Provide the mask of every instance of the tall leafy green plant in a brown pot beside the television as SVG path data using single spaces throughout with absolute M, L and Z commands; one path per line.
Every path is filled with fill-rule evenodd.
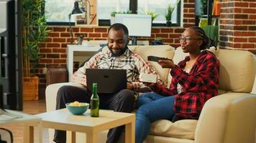
M 38 99 L 39 79 L 32 74 L 40 58 L 39 43 L 47 39 L 47 24 L 44 11 L 45 0 L 23 0 L 23 99 Z

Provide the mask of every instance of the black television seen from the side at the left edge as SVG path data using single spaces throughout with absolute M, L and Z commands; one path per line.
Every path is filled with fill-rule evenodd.
M 0 0 L 0 114 L 22 110 L 22 1 Z

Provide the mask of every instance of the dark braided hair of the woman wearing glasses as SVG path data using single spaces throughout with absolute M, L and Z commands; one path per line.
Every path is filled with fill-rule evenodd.
M 210 39 L 207 35 L 206 32 L 204 32 L 201 27 L 198 26 L 191 26 L 188 29 L 193 29 L 196 31 L 196 35 L 199 36 L 199 38 L 203 41 L 203 43 L 200 46 L 200 50 L 204 49 L 209 49 L 211 46 L 214 46 L 216 49 L 216 46 L 214 45 L 214 40 Z

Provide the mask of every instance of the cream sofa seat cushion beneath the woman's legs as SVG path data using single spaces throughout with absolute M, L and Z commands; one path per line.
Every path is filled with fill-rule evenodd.
M 194 139 L 197 122 L 194 119 L 183 119 L 173 123 L 166 119 L 160 119 L 150 125 L 150 134 L 180 139 Z

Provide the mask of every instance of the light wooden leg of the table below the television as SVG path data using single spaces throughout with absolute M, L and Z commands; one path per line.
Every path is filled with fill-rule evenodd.
M 23 142 L 34 142 L 34 127 L 24 124 L 23 134 Z

